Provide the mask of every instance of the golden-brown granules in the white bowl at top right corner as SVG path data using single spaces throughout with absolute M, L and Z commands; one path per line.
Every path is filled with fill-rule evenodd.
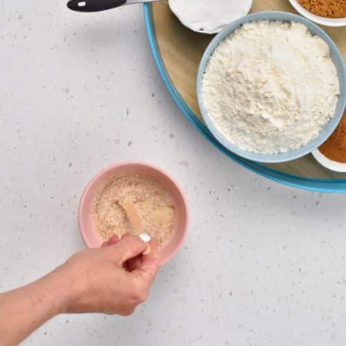
M 313 15 L 329 18 L 346 17 L 346 0 L 298 0 Z

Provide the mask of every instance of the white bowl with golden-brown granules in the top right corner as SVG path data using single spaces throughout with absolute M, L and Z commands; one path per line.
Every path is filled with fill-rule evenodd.
M 289 2 L 300 15 L 317 24 L 346 26 L 345 0 L 289 0 Z

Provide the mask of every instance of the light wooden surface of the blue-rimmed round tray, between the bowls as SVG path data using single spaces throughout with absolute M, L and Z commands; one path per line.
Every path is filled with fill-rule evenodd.
M 255 0 L 251 12 L 281 10 L 296 13 L 288 0 Z M 152 3 L 152 18 L 158 49 L 172 84 L 202 120 L 195 91 L 199 62 L 212 35 L 194 33 L 172 14 L 165 1 Z M 338 45 L 346 61 L 346 27 L 322 27 Z M 306 178 L 346 179 L 346 173 L 325 169 L 309 154 L 289 163 L 266 164 L 277 171 Z

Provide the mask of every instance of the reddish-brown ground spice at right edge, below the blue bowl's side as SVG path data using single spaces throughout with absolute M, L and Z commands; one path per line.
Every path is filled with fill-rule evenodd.
M 318 149 L 327 158 L 346 163 L 346 111 L 336 130 Z

